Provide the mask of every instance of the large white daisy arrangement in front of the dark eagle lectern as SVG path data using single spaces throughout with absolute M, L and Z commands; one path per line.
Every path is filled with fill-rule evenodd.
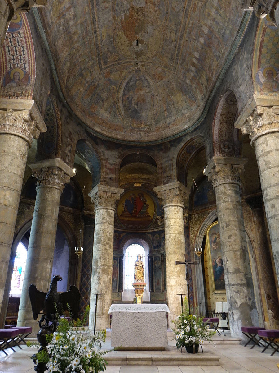
M 89 307 L 84 314 L 84 320 Z M 84 322 L 79 319 L 77 327 L 65 319 L 61 319 L 57 331 L 46 336 L 48 345 L 31 358 L 34 363 L 44 364 L 47 372 L 52 373 L 88 373 L 100 372 L 106 369 L 106 361 L 102 357 L 105 351 L 100 351 L 101 341 L 105 342 L 106 331 L 97 332 L 92 336 L 84 328 Z M 32 345 L 32 344 L 29 344 Z M 42 370 L 44 371 L 44 370 Z

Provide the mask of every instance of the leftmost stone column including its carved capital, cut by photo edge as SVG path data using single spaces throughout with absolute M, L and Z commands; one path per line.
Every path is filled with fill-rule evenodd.
M 33 107 L 33 112 L 30 110 L 34 101 L 30 100 L 30 103 L 28 101 L 29 106 L 24 105 L 23 100 L 18 101 L 14 105 L 16 109 L 23 106 L 26 110 L 8 109 L 13 107 L 13 100 L 0 100 L 0 109 L 4 109 L 0 110 L 1 326 L 4 325 L 4 317 L 6 316 L 7 302 L 4 301 L 3 296 L 28 149 L 31 147 L 32 139 L 37 139 L 40 132 L 47 130 L 37 107 Z M 37 120 L 32 120 L 35 119 L 34 116 Z

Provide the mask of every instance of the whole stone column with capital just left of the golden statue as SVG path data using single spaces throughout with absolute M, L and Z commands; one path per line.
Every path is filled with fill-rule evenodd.
M 109 327 L 112 290 L 113 230 L 116 201 L 124 189 L 96 185 L 89 193 L 95 205 L 95 230 L 90 291 L 89 329 L 94 329 L 96 294 L 98 294 L 96 330 Z

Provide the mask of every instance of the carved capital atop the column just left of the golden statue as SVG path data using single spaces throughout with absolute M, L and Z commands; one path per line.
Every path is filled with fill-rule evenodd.
M 116 209 L 116 202 L 119 200 L 120 195 L 124 192 L 124 189 L 113 188 L 111 186 L 105 186 L 97 184 L 94 186 L 92 191 L 88 194 L 91 198 L 95 209 Z

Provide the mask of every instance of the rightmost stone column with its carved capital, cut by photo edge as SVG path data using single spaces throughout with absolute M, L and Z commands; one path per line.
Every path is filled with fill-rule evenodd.
M 254 146 L 279 284 L 279 106 L 257 106 L 241 127 Z

